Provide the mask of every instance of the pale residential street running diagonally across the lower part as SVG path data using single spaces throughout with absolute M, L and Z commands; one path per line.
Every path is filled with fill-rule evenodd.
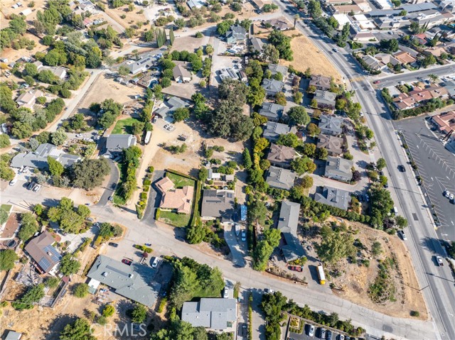
M 58 203 L 55 199 L 43 197 L 41 192 L 33 193 L 22 187 L 9 186 L 6 187 L 4 192 L 1 192 L 1 203 L 6 202 L 23 209 L 27 209 L 31 204 L 36 203 L 50 206 Z M 336 312 L 342 319 L 352 319 L 355 326 L 363 327 L 369 334 L 375 336 L 380 337 L 385 334 L 385 336 L 389 338 L 394 337 L 395 339 L 434 339 L 435 331 L 431 322 L 390 317 L 375 312 L 372 309 L 355 305 L 334 295 L 327 294 L 327 292 L 319 292 L 319 290 L 295 285 L 289 281 L 271 278 L 269 275 L 252 270 L 250 265 L 247 265 L 245 268 L 235 268 L 227 258 L 210 255 L 200 251 L 197 245 L 192 246 L 188 243 L 178 241 L 175 238 L 175 228 L 151 219 L 138 221 L 135 212 L 129 214 L 126 210 L 120 211 L 109 205 L 104 207 L 92 206 L 90 209 L 92 210 L 92 216 L 96 216 L 97 221 L 111 221 L 127 227 L 127 233 L 122 243 L 133 244 L 140 240 L 141 243 L 151 243 L 152 248 L 156 249 L 158 253 L 170 253 L 179 257 L 189 256 L 200 263 L 206 263 L 220 268 L 225 278 L 234 282 L 240 282 L 242 287 L 252 287 L 254 288 L 253 291 L 257 291 L 258 293 L 260 290 L 264 290 L 264 288 L 279 290 L 300 305 L 306 304 L 315 310 L 323 310 L 328 313 Z M 257 301 L 260 301 L 259 296 Z M 257 318 L 254 317 L 254 319 L 259 320 L 260 315 L 257 314 Z

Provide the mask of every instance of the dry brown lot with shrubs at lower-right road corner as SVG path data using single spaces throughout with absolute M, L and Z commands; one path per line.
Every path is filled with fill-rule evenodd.
M 370 266 L 348 263 L 347 260 L 337 263 L 337 268 L 344 268 L 338 278 L 332 278 L 332 283 L 341 290 L 333 292 L 346 300 L 355 302 L 368 308 L 374 308 L 378 312 L 392 317 L 410 317 L 410 311 L 418 311 L 420 319 L 427 319 L 427 307 L 422 293 L 418 290 L 419 283 L 414 273 L 414 267 L 410 259 L 410 253 L 398 236 L 390 236 L 384 231 L 378 231 L 360 223 L 348 222 L 351 229 L 358 229 L 359 233 L 353 235 L 359 239 L 368 251 L 360 253 L 364 259 L 369 259 Z M 381 243 L 382 253 L 374 258 L 370 253 L 373 242 Z M 378 259 L 395 258 L 399 270 L 391 270 L 392 280 L 395 284 L 395 302 L 387 301 L 384 305 L 374 304 L 368 297 L 368 287 L 378 275 Z M 400 273 L 399 273 L 400 272 Z M 401 276 L 400 276 L 401 274 Z

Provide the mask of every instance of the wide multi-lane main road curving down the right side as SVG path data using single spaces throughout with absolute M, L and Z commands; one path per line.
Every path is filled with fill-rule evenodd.
M 283 8 L 283 5 L 275 1 Z M 291 20 L 294 13 L 289 13 L 288 18 Z M 332 53 L 331 49 L 335 45 L 324 41 L 320 35 L 316 35 L 307 26 L 299 23 L 297 25 L 300 31 L 309 35 L 314 43 L 328 56 L 338 70 L 346 75 L 348 79 L 358 78 L 363 73 L 360 65 L 353 59 L 352 55 L 340 49 L 338 53 Z M 381 156 L 385 158 L 390 171 L 390 192 L 395 204 L 399 207 L 399 212 L 405 216 L 408 221 L 412 221 L 412 228 L 408 231 L 410 240 L 407 245 L 410 249 L 411 258 L 414 268 L 422 287 L 425 300 L 429 307 L 429 312 L 434 319 L 432 324 L 427 324 L 426 331 L 432 331 L 430 339 L 455 339 L 455 304 L 448 303 L 455 301 L 454 278 L 448 266 L 437 267 L 434 263 L 434 256 L 437 254 L 445 255 L 445 251 L 437 239 L 437 233 L 434 230 L 432 219 L 426 208 L 422 192 L 417 185 L 417 181 L 412 175 L 410 167 L 407 172 L 398 172 L 397 166 L 406 164 L 407 158 L 400 141 L 395 135 L 391 122 L 391 115 L 388 109 L 382 103 L 379 91 L 375 91 L 369 82 L 369 79 L 361 77 L 360 81 L 352 83 L 356 91 L 358 102 L 363 106 L 364 111 L 369 114 L 366 116 L 370 128 L 375 132 L 375 139 L 378 143 Z M 341 312 L 340 315 L 346 316 Z M 365 314 L 368 317 L 368 314 Z M 404 326 L 405 322 L 397 319 L 392 325 Z M 435 324 L 434 324 L 435 323 Z M 384 331 L 387 333 L 399 335 L 396 329 L 384 325 Z M 400 334 L 402 336 L 402 334 Z M 408 338 L 412 338 L 407 334 Z M 417 336 L 418 339 L 424 339 L 422 334 Z

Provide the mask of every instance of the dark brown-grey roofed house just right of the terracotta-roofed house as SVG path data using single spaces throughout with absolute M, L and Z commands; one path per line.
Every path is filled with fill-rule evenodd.
M 232 221 L 234 206 L 234 190 L 204 190 L 200 218 L 220 219 L 222 222 Z

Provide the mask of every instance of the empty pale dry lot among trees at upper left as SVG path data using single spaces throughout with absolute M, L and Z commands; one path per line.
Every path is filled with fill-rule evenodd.
M 90 104 L 100 103 L 105 99 L 114 99 L 119 103 L 130 102 L 136 94 L 144 94 L 144 89 L 138 86 L 127 87 L 114 82 L 114 78 L 102 74 L 93 83 L 79 107 L 88 109 Z

